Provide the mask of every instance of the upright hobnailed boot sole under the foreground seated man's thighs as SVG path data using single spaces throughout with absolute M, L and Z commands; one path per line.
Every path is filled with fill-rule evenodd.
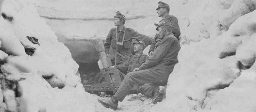
M 155 97 L 152 100 L 152 104 L 157 104 L 157 102 L 161 102 L 162 99 L 165 97 L 165 87 L 159 86 L 157 90 L 158 92 L 155 92 Z

